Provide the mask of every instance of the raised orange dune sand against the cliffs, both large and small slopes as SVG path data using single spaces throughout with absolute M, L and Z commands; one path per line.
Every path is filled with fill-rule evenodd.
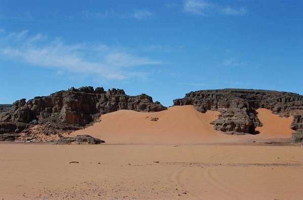
M 210 121 L 218 111 L 200 113 L 193 106 L 174 106 L 168 110 L 144 113 L 119 110 L 101 116 L 101 122 L 72 132 L 72 136 L 88 134 L 109 144 L 201 144 L 248 142 L 252 140 L 290 138 L 292 117 L 281 118 L 267 109 L 258 109 L 264 124 L 259 135 L 233 136 L 213 129 Z M 157 121 L 151 121 L 158 117 Z

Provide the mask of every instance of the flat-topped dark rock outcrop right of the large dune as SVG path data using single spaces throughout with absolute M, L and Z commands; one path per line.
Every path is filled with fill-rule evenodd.
M 281 116 L 294 116 L 293 130 L 303 131 L 303 96 L 268 90 L 223 89 L 190 92 L 174 105 L 193 105 L 196 110 L 218 110 L 214 129 L 228 134 L 257 134 L 256 126 L 262 126 L 256 109 L 267 108 Z

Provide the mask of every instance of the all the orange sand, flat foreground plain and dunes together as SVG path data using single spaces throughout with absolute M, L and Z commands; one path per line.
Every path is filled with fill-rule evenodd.
M 292 118 L 258 112 L 255 136 L 221 134 L 217 112 L 182 106 L 121 110 L 72 133 L 102 145 L 2 143 L 0 199 L 302 199 L 303 148 L 264 144 L 289 140 Z

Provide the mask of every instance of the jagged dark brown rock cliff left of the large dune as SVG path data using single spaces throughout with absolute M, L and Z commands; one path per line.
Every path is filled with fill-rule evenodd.
M 27 102 L 18 100 L 9 110 L 0 112 L 0 141 L 14 141 L 21 131 L 30 136 L 30 127 L 37 124 L 46 135 L 79 129 L 102 114 L 121 109 L 156 112 L 166 107 L 146 94 L 128 96 L 120 89 L 72 87 Z

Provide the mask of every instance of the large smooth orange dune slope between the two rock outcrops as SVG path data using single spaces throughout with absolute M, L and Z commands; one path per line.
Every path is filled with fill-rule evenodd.
M 89 134 L 107 143 L 220 142 L 228 136 L 220 134 L 210 124 L 218 114 L 217 111 L 200 113 L 193 106 L 174 106 L 154 113 L 119 110 L 102 115 L 101 122 L 72 135 Z M 152 117 L 159 119 L 151 121 Z

